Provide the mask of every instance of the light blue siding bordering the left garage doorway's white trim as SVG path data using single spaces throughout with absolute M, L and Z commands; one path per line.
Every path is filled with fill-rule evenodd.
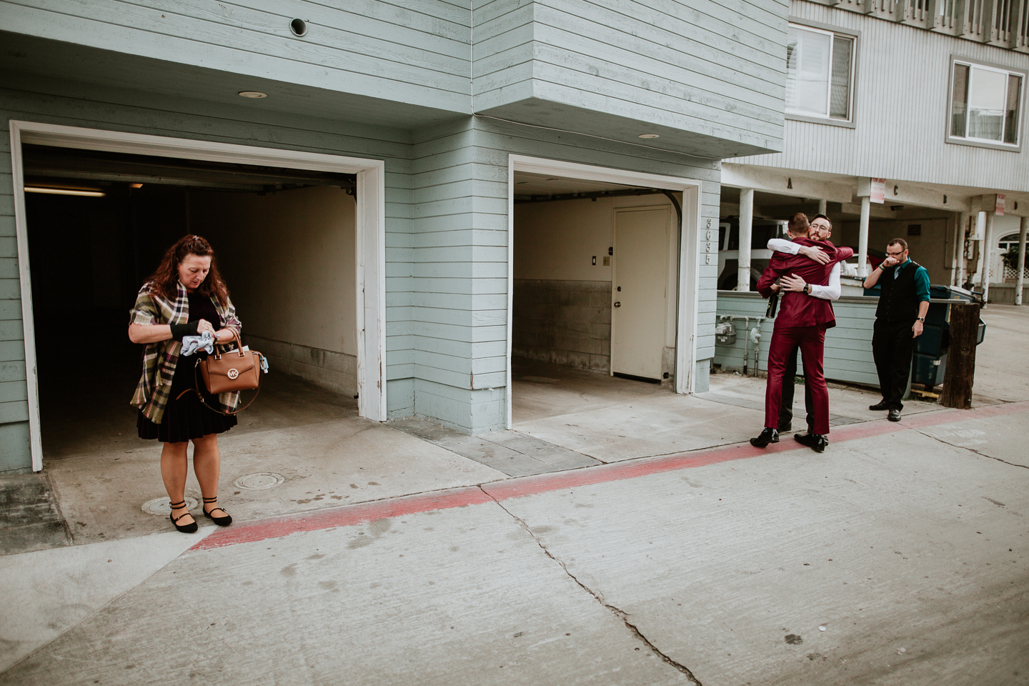
M 2 444 L 0 471 L 30 465 L 27 441 L 16 447 L 22 444 L 17 442 L 22 435 L 27 436 L 28 405 L 24 397 L 25 348 L 16 279 L 9 119 L 385 159 L 386 279 L 390 291 L 386 311 L 387 401 L 392 416 L 414 411 L 410 132 L 100 86 L 48 83 L 38 78 L 30 81 L 33 88 L 50 94 L 33 93 L 28 86 L 11 87 L 10 83 L 0 88 L 0 437 L 13 437 L 10 443 Z M 59 95 L 66 87 L 71 93 Z M 246 313 L 241 317 L 245 325 Z

